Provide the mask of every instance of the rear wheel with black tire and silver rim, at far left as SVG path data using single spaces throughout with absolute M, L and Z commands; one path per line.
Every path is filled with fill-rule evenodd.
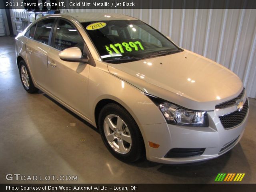
M 38 88 L 34 86 L 30 72 L 24 60 L 21 60 L 19 62 L 19 72 L 20 72 L 20 80 L 24 89 L 28 93 L 38 92 Z

